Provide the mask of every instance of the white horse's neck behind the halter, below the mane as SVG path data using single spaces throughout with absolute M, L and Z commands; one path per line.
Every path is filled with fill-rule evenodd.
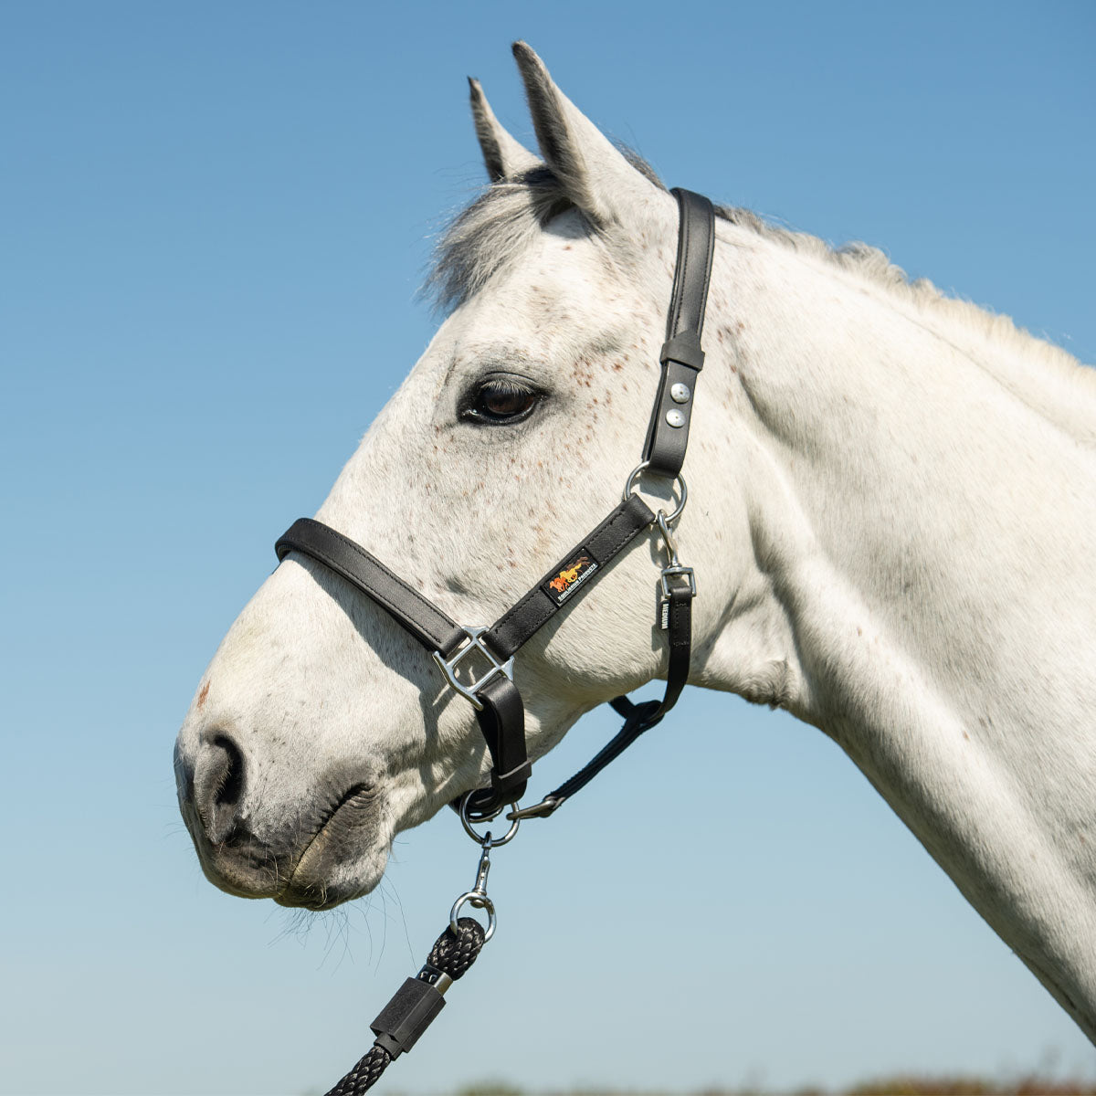
M 697 678 L 831 734 L 1096 1040 L 1091 380 L 1054 413 L 1068 369 L 1040 396 L 1051 366 L 932 308 L 723 251 L 705 380 L 745 558 Z

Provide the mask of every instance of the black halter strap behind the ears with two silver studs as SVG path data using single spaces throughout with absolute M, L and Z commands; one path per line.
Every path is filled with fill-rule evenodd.
M 671 193 L 677 198 L 680 216 L 677 266 L 666 317 L 666 341 L 659 355 L 662 376 L 647 429 L 643 459 L 649 471 L 672 477 L 685 461 L 693 397 L 704 366 L 700 334 L 716 244 L 716 214 L 701 194 L 681 189 Z M 683 387 L 675 389 L 678 385 Z M 675 390 L 687 395 L 675 400 Z

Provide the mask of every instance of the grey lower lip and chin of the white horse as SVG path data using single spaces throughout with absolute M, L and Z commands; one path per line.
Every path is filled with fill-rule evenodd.
M 377 849 L 381 796 L 374 785 L 356 784 L 320 815 L 285 888 L 281 905 L 330 910 L 370 891 L 386 856 Z M 379 859 L 379 864 L 376 861 Z M 375 870 L 369 870 L 375 868 Z

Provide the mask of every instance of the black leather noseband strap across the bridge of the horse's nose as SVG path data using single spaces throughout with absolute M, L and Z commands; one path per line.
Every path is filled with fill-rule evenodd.
M 427 651 L 450 655 L 465 639 L 464 629 L 418 590 L 392 574 L 375 556 L 322 522 L 299 517 L 274 545 L 278 562 L 299 551 L 341 574 L 373 598 Z

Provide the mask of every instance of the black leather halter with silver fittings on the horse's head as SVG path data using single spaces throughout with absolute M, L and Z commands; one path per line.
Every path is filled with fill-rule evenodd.
M 671 193 L 678 206 L 677 261 L 666 341 L 660 355 L 659 391 L 643 446 L 643 463 L 636 473 L 646 471 L 676 478 L 688 444 L 696 379 L 704 366 L 700 334 L 711 277 L 715 210 L 706 197 L 692 191 Z M 473 792 L 468 806 L 468 817 L 477 821 L 493 818 L 506 803 L 516 803 L 532 772 L 525 744 L 525 708 L 513 681 L 515 652 L 560 609 L 579 601 L 604 574 L 609 562 L 655 521 L 655 514 L 638 494 L 626 494 L 600 525 L 488 628 L 458 625 L 361 545 L 322 522 L 299 518 L 278 538 L 274 550 L 279 562 L 290 552 L 316 560 L 376 602 L 433 655 L 447 684 L 476 708 L 491 755 L 491 787 Z M 688 677 L 696 587 L 692 571 L 676 566 L 676 556 L 673 562 L 662 573 L 661 626 L 667 632 L 670 646 L 663 698 L 641 704 L 632 704 L 627 697 L 613 700 L 614 709 L 625 717 L 625 724 L 614 739 L 570 780 L 539 803 L 511 817 L 550 814 L 643 731 L 658 723 L 676 703 Z M 469 665 L 472 659 L 480 666 L 487 665 L 475 680 Z

